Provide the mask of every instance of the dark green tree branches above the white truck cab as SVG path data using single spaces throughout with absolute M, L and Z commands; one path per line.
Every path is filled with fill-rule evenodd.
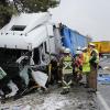
M 7 24 L 12 14 L 21 12 L 46 12 L 59 4 L 57 0 L 0 0 L 0 28 Z

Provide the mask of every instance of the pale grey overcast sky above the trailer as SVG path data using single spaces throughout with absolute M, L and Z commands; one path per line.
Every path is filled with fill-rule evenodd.
M 110 41 L 110 0 L 61 0 L 53 21 L 63 22 L 94 41 Z

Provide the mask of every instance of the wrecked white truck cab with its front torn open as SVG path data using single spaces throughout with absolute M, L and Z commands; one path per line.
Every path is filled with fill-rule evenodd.
M 0 67 L 8 76 L 4 86 L 12 80 L 19 88 L 19 94 L 30 87 L 31 79 L 37 79 L 32 74 L 47 67 L 51 53 L 55 53 L 53 24 L 50 23 L 50 19 L 48 12 L 21 13 L 13 15 L 0 30 Z M 41 75 L 46 74 L 41 73 L 37 77 L 42 77 Z M 46 75 L 45 80 L 47 78 Z M 1 80 L 2 84 L 4 80 Z M 8 88 L 4 86 L 1 85 L 0 89 Z

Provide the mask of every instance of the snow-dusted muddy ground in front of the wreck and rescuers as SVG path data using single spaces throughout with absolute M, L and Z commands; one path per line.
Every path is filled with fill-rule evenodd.
M 82 86 L 73 87 L 68 95 L 61 95 L 62 88 L 51 87 L 50 94 L 31 94 L 15 101 L 0 103 L 0 110 L 22 110 L 20 107 L 31 106 L 31 110 L 99 110 L 96 95 L 88 92 Z M 14 108 L 19 109 L 14 109 Z

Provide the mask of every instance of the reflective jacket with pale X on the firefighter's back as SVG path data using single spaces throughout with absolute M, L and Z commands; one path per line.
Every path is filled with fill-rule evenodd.
M 63 57 L 63 74 L 73 74 L 73 58 L 70 55 Z

